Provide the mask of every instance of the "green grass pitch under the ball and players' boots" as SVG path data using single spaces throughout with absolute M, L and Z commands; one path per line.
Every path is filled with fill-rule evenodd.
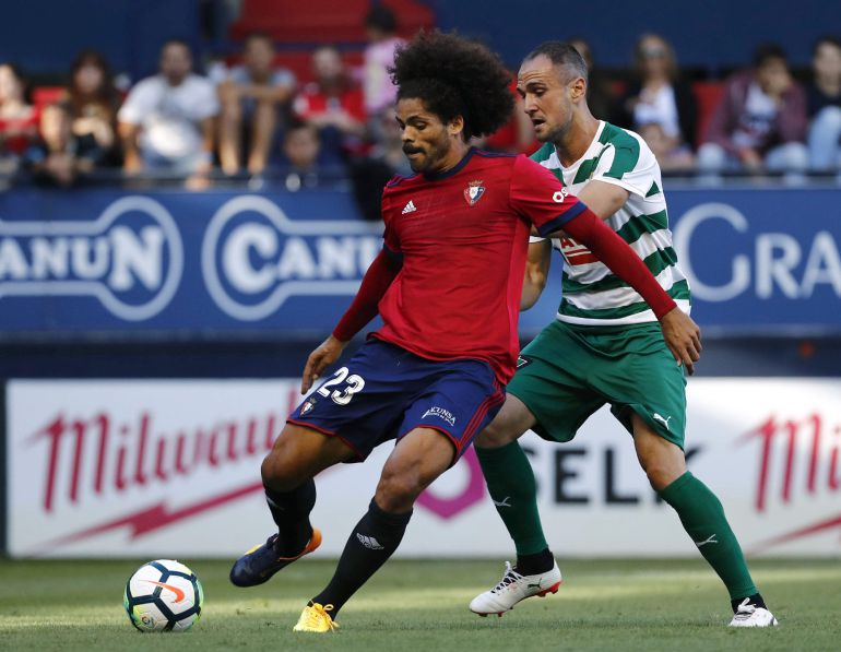
M 762 560 L 755 579 L 781 620 L 733 630 L 726 594 L 701 560 L 572 560 L 557 595 L 504 618 L 467 612 L 499 579 L 496 561 L 391 561 L 342 610 L 333 635 L 294 635 L 333 562 L 303 560 L 256 589 L 227 582 L 228 562 L 186 560 L 205 588 L 202 620 L 183 635 L 143 635 L 122 610 L 133 561 L 0 561 L 2 650 L 818 650 L 841 649 L 841 562 Z

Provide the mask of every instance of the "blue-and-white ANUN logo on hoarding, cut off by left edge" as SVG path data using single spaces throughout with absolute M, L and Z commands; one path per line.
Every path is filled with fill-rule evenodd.
M 94 221 L 0 221 L 0 299 L 92 297 L 143 321 L 169 305 L 182 271 L 175 220 L 147 197 L 123 197 Z

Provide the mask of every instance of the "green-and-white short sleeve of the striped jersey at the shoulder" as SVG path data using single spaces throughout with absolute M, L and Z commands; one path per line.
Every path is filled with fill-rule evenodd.
M 648 145 L 623 133 L 604 150 L 591 180 L 613 183 L 644 198 L 652 187 L 660 187 L 660 168 Z

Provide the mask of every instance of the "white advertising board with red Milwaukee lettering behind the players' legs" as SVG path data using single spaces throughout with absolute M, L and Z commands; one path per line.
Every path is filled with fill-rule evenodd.
M 264 540 L 260 462 L 297 379 L 13 380 L 7 532 L 14 557 L 234 557 Z M 748 554 L 841 553 L 841 380 L 694 379 L 689 469 Z M 600 411 L 569 443 L 522 439 L 558 556 L 694 555 L 627 432 Z M 391 450 L 317 479 L 312 522 L 336 556 Z M 420 499 L 398 554 L 511 555 L 472 450 Z

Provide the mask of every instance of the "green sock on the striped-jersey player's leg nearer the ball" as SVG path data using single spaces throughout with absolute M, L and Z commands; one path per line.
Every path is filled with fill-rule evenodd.
M 501 448 L 478 448 L 476 457 L 485 474 L 490 498 L 514 540 L 518 555 L 534 555 L 548 548 L 537 513 L 534 472 L 517 441 Z

